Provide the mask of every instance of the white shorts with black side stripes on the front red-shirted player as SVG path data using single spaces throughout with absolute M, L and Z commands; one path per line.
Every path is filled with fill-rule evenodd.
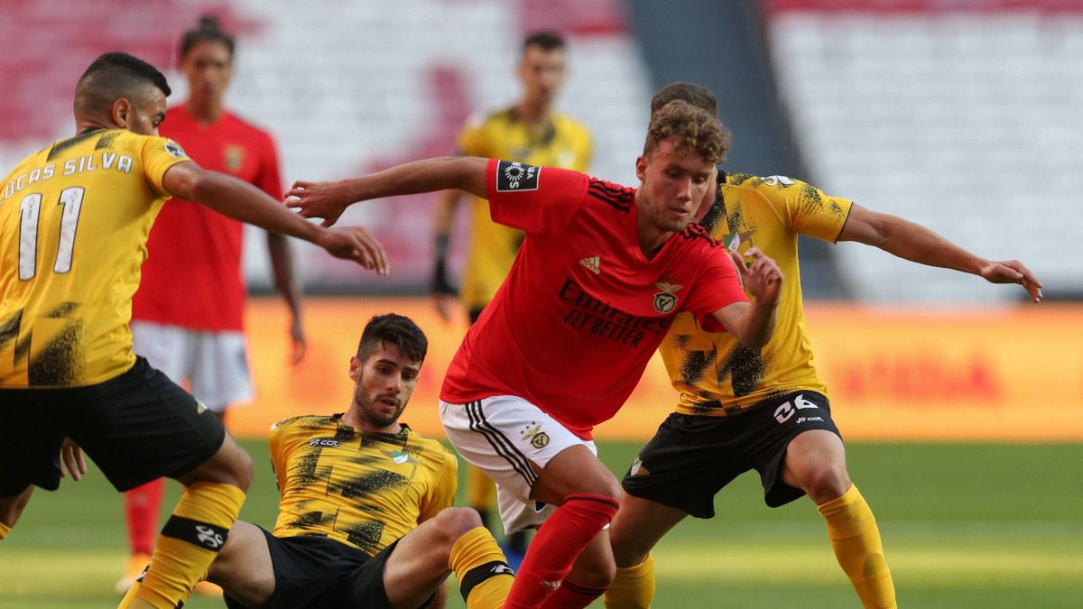
M 468 404 L 440 401 L 440 422 L 462 458 L 496 482 L 504 532 L 545 522 L 557 506 L 531 498 L 537 481 L 532 463 L 544 468 L 564 449 L 598 448 L 569 431 L 542 409 L 516 396 L 494 396 Z

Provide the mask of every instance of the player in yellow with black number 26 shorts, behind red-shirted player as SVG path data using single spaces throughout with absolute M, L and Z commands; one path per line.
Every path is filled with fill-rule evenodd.
M 678 82 L 658 91 L 656 112 L 681 100 L 717 113 L 714 93 Z M 900 258 L 1016 283 L 1038 302 L 1042 284 L 1019 261 L 979 258 L 928 229 L 832 197 L 782 176 L 718 177 L 701 223 L 730 249 L 757 247 L 785 276 L 798 274 L 797 236 L 853 241 Z M 777 329 L 752 350 L 732 335 L 678 315 L 660 347 L 677 412 L 662 424 L 623 480 L 625 495 L 610 539 L 617 576 L 609 608 L 649 607 L 654 594 L 650 550 L 689 515 L 712 518 L 715 495 L 756 469 L 771 507 L 807 494 L 823 516 L 839 566 L 865 607 L 896 607 L 895 587 L 872 510 L 850 481 L 827 389 L 815 372 L 805 333 L 799 281 L 783 284 Z

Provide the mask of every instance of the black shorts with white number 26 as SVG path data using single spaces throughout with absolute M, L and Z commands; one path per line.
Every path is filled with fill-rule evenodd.
M 765 503 L 779 507 L 805 494 L 782 481 L 782 468 L 786 446 L 810 429 L 839 435 L 827 398 L 814 391 L 785 393 L 728 416 L 674 413 L 640 451 L 621 485 L 629 495 L 713 518 L 718 491 L 755 469 Z M 649 474 L 635 475 L 640 468 Z

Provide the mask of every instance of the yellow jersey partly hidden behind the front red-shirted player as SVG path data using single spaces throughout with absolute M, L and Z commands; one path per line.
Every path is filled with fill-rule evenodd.
M 715 204 L 701 223 L 731 250 L 760 248 L 786 281 L 774 334 L 759 351 L 742 346 L 732 334 L 703 331 L 688 313 L 677 315 L 660 347 L 680 391 L 677 412 L 721 416 L 788 391 L 826 394 L 805 334 L 797 235 L 834 242 L 853 204 L 782 176 L 719 173 L 719 182 Z

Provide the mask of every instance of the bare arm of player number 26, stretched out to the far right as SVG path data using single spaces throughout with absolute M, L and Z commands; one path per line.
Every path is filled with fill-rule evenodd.
M 838 241 L 863 243 L 929 267 L 973 273 L 990 283 L 1019 284 L 1027 289 L 1031 300 L 1042 300 L 1042 282 L 1022 262 L 979 258 L 929 229 L 897 216 L 854 205 Z

